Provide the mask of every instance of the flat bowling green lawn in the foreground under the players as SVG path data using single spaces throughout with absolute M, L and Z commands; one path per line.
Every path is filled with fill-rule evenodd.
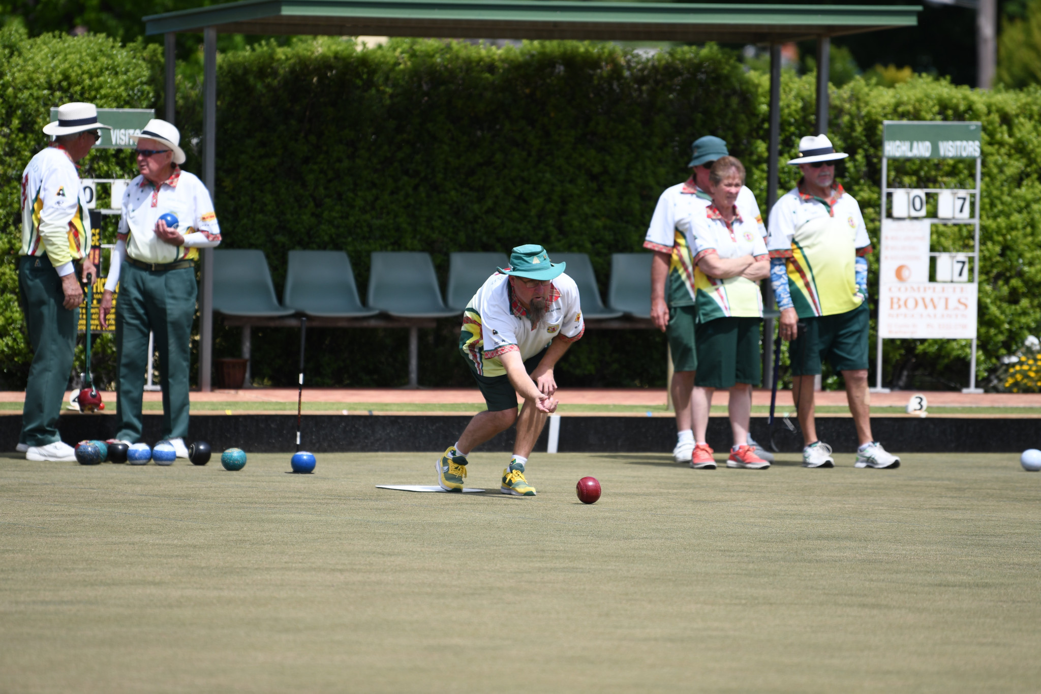
M 1041 474 L 434 454 L 0 457 L 4 692 L 1034 692 Z M 497 489 L 502 454 L 468 484 Z M 575 498 L 593 474 L 594 506 Z

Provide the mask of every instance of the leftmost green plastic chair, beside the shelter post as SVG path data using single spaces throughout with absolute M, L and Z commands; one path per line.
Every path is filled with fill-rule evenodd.
M 213 311 L 253 318 L 294 314 L 275 298 L 263 251 L 251 249 L 213 250 Z

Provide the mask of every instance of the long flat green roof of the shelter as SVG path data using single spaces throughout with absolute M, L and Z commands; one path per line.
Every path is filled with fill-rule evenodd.
M 148 34 L 222 33 L 781 43 L 915 26 L 919 5 L 547 0 L 245 0 L 145 19 Z

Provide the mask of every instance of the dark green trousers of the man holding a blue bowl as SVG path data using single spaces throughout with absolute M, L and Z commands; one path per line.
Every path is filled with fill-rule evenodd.
M 188 370 L 195 318 L 195 269 L 148 271 L 124 262 L 116 308 L 116 438 L 141 440 L 142 393 L 148 368 L 148 333 L 155 334 L 162 387 L 162 438 L 188 433 Z

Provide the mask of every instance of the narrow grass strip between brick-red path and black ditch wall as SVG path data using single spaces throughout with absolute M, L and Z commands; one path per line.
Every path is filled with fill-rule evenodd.
M 116 412 L 115 396 L 105 403 L 105 413 Z M 480 412 L 486 409 L 482 403 L 308 403 L 304 402 L 305 412 L 342 412 L 347 410 L 351 414 L 364 414 L 365 412 Z M 296 412 L 296 403 L 270 403 L 270 402 L 198 402 L 192 404 L 193 412 L 223 412 L 231 410 L 234 413 L 243 412 Z M 823 405 L 816 408 L 819 414 L 849 414 L 849 408 L 840 405 Z M 0 403 L 0 412 L 21 412 L 21 403 Z M 162 412 L 161 403 L 145 403 L 144 411 L 149 413 Z M 653 412 L 655 415 L 671 414 L 664 405 L 572 405 L 561 403 L 559 412 L 602 412 L 604 414 L 625 414 Z M 752 408 L 753 414 L 768 414 L 768 406 L 757 405 Z M 788 407 L 785 410 L 779 407 L 777 413 L 795 416 L 794 408 Z M 904 407 L 872 407 L 871 412 L 875 416 L 903 416 L 906 414 Z M 1041 407 L 933 407 L 930 410 L 933 414 L 1017 414 L 1017 415 L 1041 415 Z M 715 405 L 712 407 L 713 416 L 726 416 L 727 407 Z

